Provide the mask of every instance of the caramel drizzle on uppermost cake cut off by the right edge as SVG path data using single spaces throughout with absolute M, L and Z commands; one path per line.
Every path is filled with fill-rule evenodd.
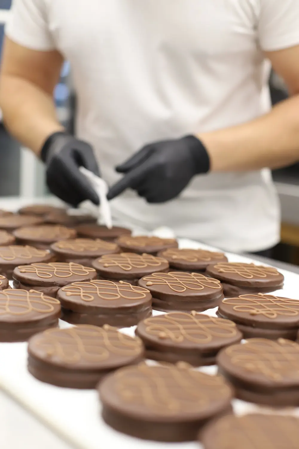
M 299 301 L 297 299 L 278 298 L 274 295 L 240 295 L 229 298 L 223 304 L 233 305 L 235 312 L 247 312 L 249 315 L 264 315 L 274 319 L 278 316 L 296 317 L 299 315 Z

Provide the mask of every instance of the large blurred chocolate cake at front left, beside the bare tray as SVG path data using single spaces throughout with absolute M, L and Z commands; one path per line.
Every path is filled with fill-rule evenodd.
M 28 370 L 36 379 L 58 387 L 95 388 L 99 380 L 143 358 L 143 344 L 105 325 L 49 329 L 28 345 Z

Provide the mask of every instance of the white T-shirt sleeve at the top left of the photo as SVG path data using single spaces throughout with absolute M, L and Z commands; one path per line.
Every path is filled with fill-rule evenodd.
M 5 34 L 17 44 L 48 51 L 55 43 L 48 27 L 45 0 L 13 0 Z

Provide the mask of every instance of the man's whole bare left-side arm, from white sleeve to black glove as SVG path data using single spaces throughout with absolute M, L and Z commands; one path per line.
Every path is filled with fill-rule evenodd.
M 5 39 L 0 108 L 9 132 L 35 154 L 50 134 L 63 129 L 53 102 L 62 63 L 57 51 L 35 51 Z

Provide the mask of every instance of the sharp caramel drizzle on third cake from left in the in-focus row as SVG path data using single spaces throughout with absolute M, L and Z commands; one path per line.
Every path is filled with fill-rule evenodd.
M 167 285 L 170 290 L 183 293 L 187 290 L 203 290 L 204 288 L 221 289 L 221 283 L 212 277 L 206 277 L 201 273 L 153 273 L 151 276 L 143 277 L 147 286 Z

